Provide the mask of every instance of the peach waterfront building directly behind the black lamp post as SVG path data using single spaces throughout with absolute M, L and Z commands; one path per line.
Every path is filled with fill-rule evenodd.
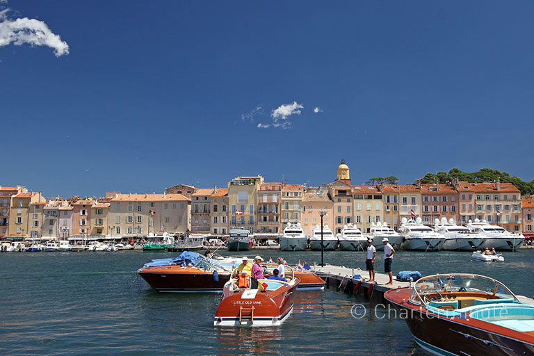
M 309 236 L 316 225 L 321 224 L 319 211 L 326 211 L 323 223 L 328 224 L 328 218 L 334 216 L 334 202 L 327 187 L 307 187 L 302 195 L 302 217 L 300 220 L 304 233 Z

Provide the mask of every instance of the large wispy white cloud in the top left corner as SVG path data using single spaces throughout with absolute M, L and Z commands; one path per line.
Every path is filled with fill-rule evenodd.
M 6 0 L 0 0 L 7 3 Z M 59 35 L 50 31 L 47 24 L 37 19 L 27 17 L 8 19 L 9 8 L 0 11 L 0 47 L 12 43 L 16 46 L 29 44 L 30 46 L 47 46 L 54 49 L 57 57 L 69 54 L 69 45 L 62 41 Z

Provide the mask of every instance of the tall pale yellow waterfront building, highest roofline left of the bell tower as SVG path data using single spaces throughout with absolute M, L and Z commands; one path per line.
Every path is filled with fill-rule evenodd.
M 230 206 L 230 225 L 240 225 L 250 232 L 256 228 L 256 207 L 258 188 L 264 183 L 264 177 L 236 177 L 228 182 L 228 204 Z M 239 214 L 236 214 L 239 212 Z

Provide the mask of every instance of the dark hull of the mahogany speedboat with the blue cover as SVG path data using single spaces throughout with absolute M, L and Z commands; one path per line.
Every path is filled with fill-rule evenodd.
M 230 279 L 229 272 L 218 273 L 217 282 L 212 273 L 196 270 L 196 268 L 185 270 L 179 266 L 143 268 L 138 270 L 138 273 L 152 289 L 159 292 L 220 293 Z

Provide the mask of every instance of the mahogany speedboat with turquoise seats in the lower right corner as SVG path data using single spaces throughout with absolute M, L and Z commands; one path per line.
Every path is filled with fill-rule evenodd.
M 385 298 L 435 355 L 534 355 L 534 305 L 482 275 L 431 275 Z

